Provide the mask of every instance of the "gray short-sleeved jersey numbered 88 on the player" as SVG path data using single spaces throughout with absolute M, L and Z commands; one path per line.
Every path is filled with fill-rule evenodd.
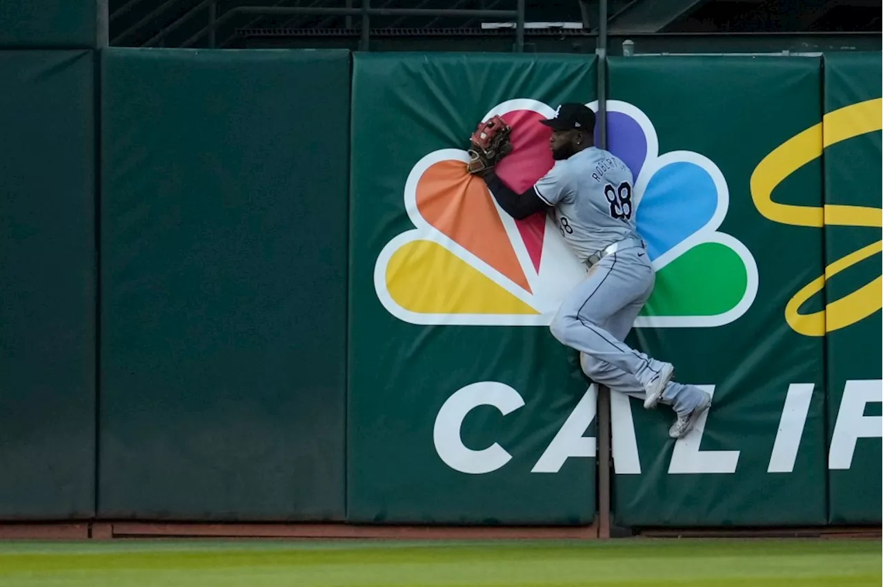
M 611 152 L 592 146 L 555 161 L 533 189 L 555 207 L 555 224 L 581 261 L 615 241 L 640 238 L 631 170 Z

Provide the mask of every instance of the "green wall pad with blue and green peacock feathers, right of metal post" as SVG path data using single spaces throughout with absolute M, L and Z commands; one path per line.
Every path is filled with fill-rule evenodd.
M 615 523 L 823 524 L 823 341 L 785 319 L 791 292 L 820 274 L 821 231 L 758 213 L 781 161 L 758 164 L 820 120 L 820 61 L 614 57 L 608 73 L 610 148 L 638 174 L 638 231 L 657 268 L 630 342 L 713 391 L 676 442 L 670 408 L 611 398 Z M 821 172 L 812 160 L 774 200 L 818 208 Z

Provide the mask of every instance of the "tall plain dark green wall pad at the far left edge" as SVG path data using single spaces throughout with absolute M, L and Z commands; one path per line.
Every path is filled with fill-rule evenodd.
M 94 513 L 94 57 L 0 51 L 0 518 Z

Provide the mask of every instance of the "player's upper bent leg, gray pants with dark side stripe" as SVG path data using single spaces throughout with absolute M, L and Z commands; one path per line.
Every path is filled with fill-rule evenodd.
M 653 266 L 644 249 L 605 256 L 564 299 L 550 329 L 562 344 L 634 376 L 648 397 L 658 398 L 674 368 L 640 353 L 604 328 L 630 304 L 643 304 L 653 291 Z

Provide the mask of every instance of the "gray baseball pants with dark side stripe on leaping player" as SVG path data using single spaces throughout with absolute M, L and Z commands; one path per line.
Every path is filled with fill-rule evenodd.
M 660 369 L 623 340 L 653 293 L 656 276 L 645 249 L 632 247 L 601 258 L 567 295 L 550 330 L 580 353 L 580 366 L 593 382 L 621 393 L 646 395 L 645 384 Z M 660 402 L 679 416 L 692 412 L 704 392 L 669 382 Z

